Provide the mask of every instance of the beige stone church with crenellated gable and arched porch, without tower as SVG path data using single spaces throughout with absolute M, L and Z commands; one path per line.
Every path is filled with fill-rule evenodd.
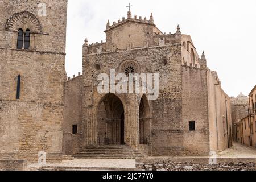
M 106 24 L 106 42 L 82 48 L 83 75 L 65 83 L 63 152 L 122 145 L 148 156 L 208 155 L 232 146 L 230 98 L 215 71 L 199 57 L 191 36 L 160 31 L 150 18 Z M 99 94 L 97 77 L 159 73 L 159 97 Z M 77 131 L 73 132 L 75 126 Z

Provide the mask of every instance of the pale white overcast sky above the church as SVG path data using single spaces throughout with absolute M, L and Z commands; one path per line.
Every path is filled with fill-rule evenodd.
M 131 13 L 152 13 L 162 32 L 191 35 L 199 55 L 205 51 L 208 67 L 216 70 L 229 96 L 248 95 L 256 84 L 256 1 L 255 0 L 75 0 L 68 1 L 68 76 L 82 72 L 82 44 L 103 40 L 108 19 L 117 22 Z

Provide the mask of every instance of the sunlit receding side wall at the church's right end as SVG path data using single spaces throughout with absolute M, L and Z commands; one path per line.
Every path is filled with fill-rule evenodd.
M 231 102 L 222 90 L 216 71 L 207 70 L 210 151 L 232 146 Z

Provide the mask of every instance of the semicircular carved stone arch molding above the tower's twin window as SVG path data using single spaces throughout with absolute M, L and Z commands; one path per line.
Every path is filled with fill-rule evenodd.
M 34 14 L 28 11 L 15 13 L 13 16 L 11 16 L 10 19 L 7 19 L 7 22 L 5 24 L 6 30 L 18 31 L 17 28 L 20 28 L 20 26 L 16 27 L 16 24 L 19 23 L 20 20 L 29 24 L 31 27 L 26 27 L 26 28 L 30 28 L 31 31 L 42 33 L 42 26 L 40 21 L 38 20 L 38 18 L 36 18 Z

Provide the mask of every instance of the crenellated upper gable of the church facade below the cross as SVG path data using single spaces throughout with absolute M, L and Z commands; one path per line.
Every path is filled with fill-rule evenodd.
M 118 20 L 119 24 L 125 23 L 125 21 L 130 21 L 133 19 L 125 19 L 124 20 Z M 134 18 L 135 22 L 141 22 L 142 18 L 135 16 Z M 170 45 L 180 45 L 181 44 L 181 36 L 183 36 L 180 32 L 179 26 L 177 27 L 177 31 L 172 34 L 169 32 L 166 34 L 165 32 L 162 33 L 158 28 L 155 27 L 154 25 L 154 19 L 151 18 L 150 20 L 144 20 L 142 21 L 144 23 L 148 23 L 149 26 L 138 26 L 137 24 L 132 23 L 129 27 L 134 26 L 135 32 L 133 33 L 133 30 L 127 31 L 127 32 L 122 32 L 122 27 L 121 30 L 119 30 L 118 27 L 116 27 L 116 23 L 114 23 L 114 26 L 110 26 L 109 21 L 107 23 L 107 27 L 115 27 L 117 30 L 113 28 L 112 31 L 107 32 L 107 38 L 106 42 L 96 42 L 96 43 L 91 43 L 88 44 L 88 39 L 85 39 L 85 43 L 83 46 L 83 55 L 90 55 L 90 54 L 101 54 L 101 53 L 109 53 L 109 52 L 119 52 L 119 51 L 127 51 L 127 50 L 133 50 L 133 49 L 145 49 L 145 48 L 156 48 L 156 47 L 162 47 L 162 46 L 170 46 Z M 152 25 L 152 26 L 150 26 Z M 123 24 L 123 26 L 126 26 Z M 134 36 L 137 36 L 137 26 L 138 26 L 138 31 L 139 28 L 142 29 L 141 36 L 139 36 L 138 39 Z M 105 31 L 106 32 L 106 31 Z M 113 33 L 112 33 L 113 32 Z M 123 35 L 119 35 L 123 34 Z M 138 33 L 139 34 L 139 33 Z M 131 38 L 131 39 L 130 39 Z M 134 38 L 134 39 L 132 39 Z M 116 40 L 115 40 L 116 39 Z M 134 42 L 134 40 L 137 40 Z

